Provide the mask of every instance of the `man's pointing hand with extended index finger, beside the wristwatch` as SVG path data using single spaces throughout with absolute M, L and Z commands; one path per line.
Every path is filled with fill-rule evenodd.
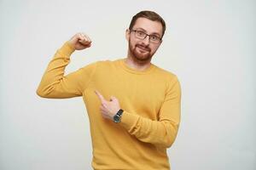
M 119 99 L 111 96 L 110 101 L 108 101 L 98 91 L 95 91 L 95 93 L 102 102 L 100 107 L 102 116 L 113 120 L 113 116 L 120 110 Z

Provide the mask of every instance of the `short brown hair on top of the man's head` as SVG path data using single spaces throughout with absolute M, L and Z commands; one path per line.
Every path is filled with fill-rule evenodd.
M 166 31 L 166 22 L 164 19 L 162 19 L 162 17 L 160 17 L 159 14 L 156 14 L 155 12 L 148 11 L 148 10 L 144 10 L 144 11 L 137 13 L 131 19 L 129 30 L 132 30 L 132 27 L 135 25 L 135 22 L 138 18 L 146 18 L 148 20 L 159 21 L 161 23 L 161 25 L 163 26 L 162 37 L 164 37 L 165 31 Z

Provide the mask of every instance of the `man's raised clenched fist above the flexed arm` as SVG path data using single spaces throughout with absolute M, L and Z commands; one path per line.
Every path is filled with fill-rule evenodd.
M 68 41 L 73 48 L 76 50 L 81 50 L 85 48 L 90 48 L 91 40 L 90 37 L 85 35 L 84 33 L 77 33 Z

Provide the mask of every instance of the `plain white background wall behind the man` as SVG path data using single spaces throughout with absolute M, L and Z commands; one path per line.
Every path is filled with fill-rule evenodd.
M 42 99 L 36 89 L 57 48 L 84 31 L 67 73 L 124 58 L 131 17 L 150 9 L 166 20 L 152 60 L 182 89 L 182 122 L 168 150 L 173 170 L 256 169 L 256 2 L 0 0 L 0 169 L 90 169 L 81 98 Z

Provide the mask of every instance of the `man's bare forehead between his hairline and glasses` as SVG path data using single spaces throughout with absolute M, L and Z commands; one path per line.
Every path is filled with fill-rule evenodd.
M 138 18 L 133 26 L 133 29 L 143 29 L 148 34 L 162 35 L 163 26 L 159 21 L 148 20 L 147 18 Z

